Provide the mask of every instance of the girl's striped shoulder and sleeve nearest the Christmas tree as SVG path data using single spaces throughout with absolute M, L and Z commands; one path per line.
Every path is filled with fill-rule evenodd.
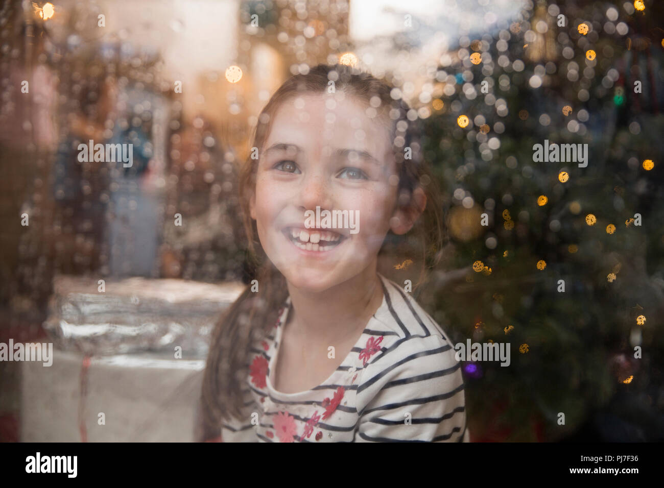
M 369 325 L 372 335 L 380 337 L 366 351 L 371 357 L 360 372 L 355 396 L 363 418 L 360 438 L 463 439 L 464 383 L 452 341 L 408 292 L 381 279 L 384 300 Z M 404 418 L 418 419 L 412 423 L 421 430 L 396 428 Z

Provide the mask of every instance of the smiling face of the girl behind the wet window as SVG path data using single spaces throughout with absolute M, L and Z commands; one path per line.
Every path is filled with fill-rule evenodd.
M 410 228 L 396 210 L 388 129 L 367 108 L 349 96 L 307 94 L 287 100 L 272 120 L 250 210 L 268 258 L 298 289 L 347 282 L 375 264 L 390 224 L 397 233 Z M 317 207 L 321 224 L 307 228 L 317 222 L 305 212 L 315 216 Z M 323 210 L 349 218 L 324 228 Z

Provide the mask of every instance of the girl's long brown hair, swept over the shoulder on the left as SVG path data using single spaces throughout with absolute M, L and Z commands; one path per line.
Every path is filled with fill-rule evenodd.
M 335 92 L 343 91 L 348 96 L 369 102 L 376 108 L 377 115 L 380 115 L 377 120 L 392 122 L 388 125 L 391 125 L 392 148 L 398 168 L 398 195 L 402 195 L 398 199 L 398 204 L 402 207 L 412 206 L 414 189 L 421 187 L 424 190 L 427 197 L 426 208 L 413 229 L 408 232 L 408 234 L 419 234 L 418 260 L 422 260 L 422 270 L 416 286 L 420 285 L 426 276 L 426 268 L 434 266 L 440 259 L 438 250 L 443 240 L 442 206 L 439 204 L 440 199 L 434 179 L 422 157 L 417 114 L 406 102 L 400 100 L 397 90 L 393 93 L 394 88 L 386 82 L 355 68 L 343 64 L 319 64 L 306 74 L 292 76 L 270 98 L 258 117 L 250 147 L 258 148 L 258 153 L 261 153 L 276 112 L 284 102 L 304 94 L 328 93 L 330 85 L 334 86 Z M 378 100 L 380 100 L 379 105 Z M 408 155 L 412 155 L 408 159 L 404 154 L 406 147 L 410 147 Z M 258 235 L 256 222 L 249 216 L 249 201 L 256 185 L 257 168 L 258 159 L 250 158 L 242 167 L 240 201 L 250 257 L 257 269 L 259 292 L 252 293 L 248 286 L 216 324 L 212 332 L 203 378 L 201 402 L 203 414 L 208 429 L 214 429 L 217 435 L 216 429 L 220 428 L 222 419 L 228 419 L 230 416 L 240 418 L 242 415 L 243 390 L 246 390 L 250 349 L 255 341 L 260 341 L 270 332 L 278 319 L 278 309 L 288 297 L 286 280 L 276 270 L 260 246 L 260 242 L 256 240 Z M 410 256 L 415 258 L 412 247 L 408 244 L 410 244 L 408 238 L 396 236 L 390 231 L 379 254 L 384 254 L 386 248 L 390 246 L 394 250 L 401 250 L 405 246 L 410 248 Z

